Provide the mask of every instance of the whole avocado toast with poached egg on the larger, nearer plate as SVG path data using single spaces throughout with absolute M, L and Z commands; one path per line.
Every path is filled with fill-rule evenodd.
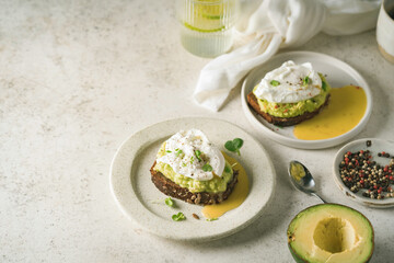
M 198 205 L 223 202 L 237 182 L 237 171 L 198 129 L 181 130 L 164 141 L 150 172 L 162 193 Z

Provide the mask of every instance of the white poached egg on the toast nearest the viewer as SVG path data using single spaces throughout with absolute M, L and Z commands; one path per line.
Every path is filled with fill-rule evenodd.
M 157 162 L 167 163 L 174 172 L 184 176 L 207 181 L 213 174 L 221 176 L 225 160 L 199 129 L 181 130 L 165 141 L 165 155 Z

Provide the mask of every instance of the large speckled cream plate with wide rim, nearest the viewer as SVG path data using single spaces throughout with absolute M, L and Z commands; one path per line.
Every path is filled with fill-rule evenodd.
M 160 145 L 181 129 L 199 128 L 224 151 L 224 142 L 235 137 L 244 145 L 235 157 L 250 178 L 250 193 L 237 208 L 218 220 L 207 221 L 201 206 L 176 201 L 177 207 L 164 204 L 166 196 L 151 182 L 150 168 Z M 275 187 L 275 170 L 266 150 L 240 127 L 212 118 L 178 118 L 144 128 L 128 138 L 116 152 L 111 168 L 111 190 L 124 214 L 144 230 L 169 239 L 212 240 L 229 236 L 250 225 L 262 215 Z M 185 221 L 173 221 L 178 211 Z M 200 219 L 192 215 L 197 214 Z

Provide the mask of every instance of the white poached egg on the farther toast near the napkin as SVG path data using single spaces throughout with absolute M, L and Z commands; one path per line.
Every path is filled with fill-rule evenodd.
M 262 100 L 275 103 L 297 103 L 318 95 L 322 79 L 312 64 L 283 62 L 279 68 L 266 73 L 254 90 Z

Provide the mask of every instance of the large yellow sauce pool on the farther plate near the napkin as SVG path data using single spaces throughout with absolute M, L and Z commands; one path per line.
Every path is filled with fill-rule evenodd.
M 296 125 L 293 134 L 296 138 L 303 140 L 337 137 L 356 127 L 366 108 L 367 95 L 360 87 L 332 89 L 328 105 L 313 118 Z

